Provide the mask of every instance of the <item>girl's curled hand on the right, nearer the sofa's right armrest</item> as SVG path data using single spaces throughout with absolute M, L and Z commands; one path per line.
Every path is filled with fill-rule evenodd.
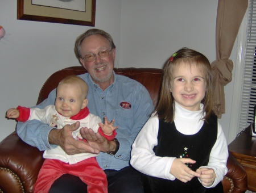
M 196 172 L 201 174 L 199 179 L 204 186 L 211 186 L 216 178 L 214 170 L 207 167 L 201 167 Z

